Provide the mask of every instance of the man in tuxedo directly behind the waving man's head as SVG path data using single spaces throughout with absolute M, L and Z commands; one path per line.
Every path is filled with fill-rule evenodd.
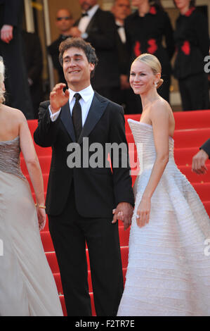
M 73 37 L 81 37 L 96 49 L 99 63 L 91 80 L 93 89 L 119 103 L 119 63 L 117 59 L 114 17 L 102 11 L 97 0 L 79 0 L 81 18 L 71 29 Z

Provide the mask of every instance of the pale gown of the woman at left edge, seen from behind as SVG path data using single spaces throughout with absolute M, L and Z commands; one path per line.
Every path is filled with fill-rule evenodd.
M 20 170 L 19 137 L 0 142 L 0 316 L 63 316 Z

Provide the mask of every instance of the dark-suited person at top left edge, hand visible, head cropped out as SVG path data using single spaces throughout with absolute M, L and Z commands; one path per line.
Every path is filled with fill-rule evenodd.
M 6 67 L 6 104 L 34 118 L 23 56 L 22 0 L 0 0 L 0 56 Z

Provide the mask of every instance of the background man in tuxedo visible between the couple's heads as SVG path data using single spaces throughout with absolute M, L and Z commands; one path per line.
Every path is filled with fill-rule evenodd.
M 116 42 L 118 51 L 118 61 L 120 70 L 119 104 L 124 106 L 126 114 L 137 113 L 138 103 L 136 96 L 129 84 L 127 66 L 129 62 L 129 52 L 126 49 L 126 33 L 124 29 L 124 20 L 131 14 L 131 4 L 129 0 L 114 0 L 112 13 L 115 18 L 115 27 L 117 30 Z

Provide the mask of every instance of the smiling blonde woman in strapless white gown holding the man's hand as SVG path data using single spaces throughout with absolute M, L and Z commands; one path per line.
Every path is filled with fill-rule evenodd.
M 142 54 L 131 65 L 140 122 L 129 120 L 140 159 L 129 264 L 118 316 L 210 316 L 210 220 L 173 158 L 173 113 L 157 94 L 161 65 Z

